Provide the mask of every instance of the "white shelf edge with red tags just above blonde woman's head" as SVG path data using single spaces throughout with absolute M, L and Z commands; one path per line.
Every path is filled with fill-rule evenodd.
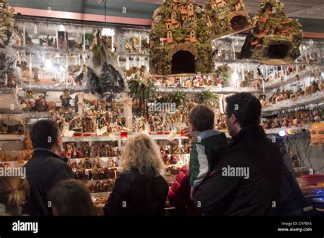
M 135 135 L 136 133 L 146 133 L 152 137 L 153 140 L 184 140 L 187 136 L 182 135 L 180 131 L 165 131 L 165 132 L 120 132 L 120 133 L 103 133 L 98 135 L 96 133 L 73 133 L 69 137 L 62 137 L 63 142 L 105 142 L 105 141 L 122 141 L 127 140 L 127 137 Z

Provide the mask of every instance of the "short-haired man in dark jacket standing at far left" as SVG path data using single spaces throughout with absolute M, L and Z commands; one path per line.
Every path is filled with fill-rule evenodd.
M 63 161 L 62 137 L 57 124 L 52 120 L 39 120 L 31 129 L 33 156 L 26 163 L 30 196 L 25 213 L 30 215 L 51 215 L 49 191 L 59 181 L 73 178 L 68 164 Z

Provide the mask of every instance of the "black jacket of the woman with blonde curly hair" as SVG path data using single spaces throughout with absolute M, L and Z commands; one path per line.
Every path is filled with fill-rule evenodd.
M 167 181 L 148 177 L 138 170 L 121 172 L 103 209 L 105 215 L 163 215 Z

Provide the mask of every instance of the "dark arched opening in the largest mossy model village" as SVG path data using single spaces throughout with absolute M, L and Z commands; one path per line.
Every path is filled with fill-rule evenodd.
M 195 56 L 189 51 L 177 51 L 172 56 L 172 74 L 195 72 Z

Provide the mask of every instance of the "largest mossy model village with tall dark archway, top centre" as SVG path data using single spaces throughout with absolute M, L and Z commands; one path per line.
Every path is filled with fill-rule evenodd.
M 151 73 L 211 72 L 211 34 L 206 21 L 205 10 L 194 1 L 164 1 L 154 11 L 149 34 Z

